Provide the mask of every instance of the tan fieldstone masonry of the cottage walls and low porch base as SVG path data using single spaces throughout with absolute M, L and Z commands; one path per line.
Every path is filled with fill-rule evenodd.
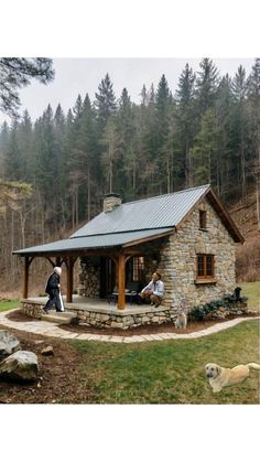
M 199 229 L 199 209 L 206 212 L 206 229 Z M 232 237 L 207 198 L 191 211 L 177 229 L 167 237 L 134 246 L 144 257 L 144 278 L 149 281 L 158 270 L 165 284 L 165 298 L 159 308 L 133 305 L 126 310 L 117 307 L 80 309 L 69 304 L 69 311 L 77 313 L 78 322 L 100 327 L 129 329 L 142 324 L 173 322 L 183 300 L 188 309 L 231 294 L 236 287 L 235 255 Z M 197 254 L 214 255 L 214 281 L 196 280 Z M 156 256 L 156 259 L 154 259 Z M 84 257 L 79 275 L 78 293 L 88 298 L 99 298 L 100 269 L 98 258 Z M 145 282 L 143 281 L 143 282 Z M 238 309 L 241 307 L 234 307 Z M 246 307 L 245 307 L 246 308 Z M 24 301 L 26 314 L 41 318 L 41 307 Z M 220 313 L 221 314 L 221 313 Z

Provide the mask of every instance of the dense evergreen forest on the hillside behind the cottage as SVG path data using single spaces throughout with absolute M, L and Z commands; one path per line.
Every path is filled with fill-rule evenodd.
M 107 74 L 93 101 L 86 88 L 67 114 L 48 105 L 1 126 L 1 275 L 15 283 L 14 248 L 69 236 L 109 192 L 128 202 L 210 183 L 228 206 L 253 192 L 259 226 L 260 58 L 234 78 L 210 58 L 197 73 L 187 63 L 170 86 L 144 83 L 137 104 Z

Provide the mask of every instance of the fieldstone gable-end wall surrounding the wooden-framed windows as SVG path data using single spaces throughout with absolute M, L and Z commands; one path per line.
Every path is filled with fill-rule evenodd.
M 207 213 L 207 230 L 199 229 L 199 209 Z M 166 307 L 177 309 L 183 299 L 188 307 L 218 300 L 236 287 L 236 244 L 215 209 L 205 198 L 169 238 L 161 255 Z M 196 283 L 196 255 L 213 254 L 215 283 Z

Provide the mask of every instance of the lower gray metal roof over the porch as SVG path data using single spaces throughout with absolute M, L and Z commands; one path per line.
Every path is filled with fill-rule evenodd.
M 161 234 L 169 234 L 173 228 L 158 228 L 145 229 L 139 232 L 117 233 L 98 236 L 84 236 L 75 237 L 74 239 L 56 240 L 55 243 L 44 244 L 42 246 L 28 247 L 21 250 L 14 250 L 13 254 L 18 255 L 32 255 L 32 254 L 51 254 L 57 251 L 69 251 L 80 249 L 95 249 L 99 247 L 117 247 L 123 245 L 131 245 L 132 241 L 137 243 L 141 239 L 151 239 Z

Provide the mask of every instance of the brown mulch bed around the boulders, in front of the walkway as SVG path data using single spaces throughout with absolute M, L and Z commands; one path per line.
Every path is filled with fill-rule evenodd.
M 39 379 L 35 383 L 17 384 L 0 380 L 0 404 L 80 404 L 93 397 L 91 384 L 80 375 L 82 354 L 69 342 L 48 339 L 29 332 L 17 331 L 0 325 L 1 330 L 12 332 L 20 341 L 21 348 L 36 354 Z M 42 350 L 52 346 L 53 356 L 43 356 Z M 77 386 L 75 386 L 77 384 Z

